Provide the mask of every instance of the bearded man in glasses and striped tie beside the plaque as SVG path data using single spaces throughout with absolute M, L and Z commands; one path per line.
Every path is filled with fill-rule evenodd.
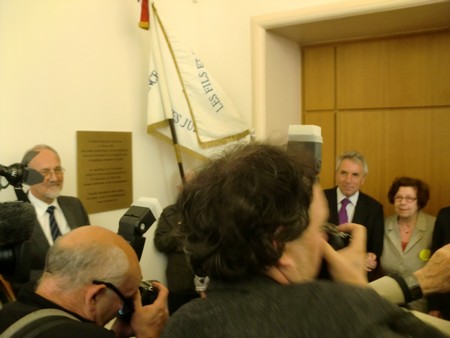
M 36 155 L 33 156 L 34 153 Z M 24 159 L 29 159 L 28 167 L 44 177 L 43 182 L 30 186 L 27 193 L 38 220 L 31 237 L 30 279 L 33 283 L 40 277 L 47 251 L 56 237 L 79 226 L 89 225 L 90 222 L 86 209 L 78 198 L 61 196 L 64 168 L 55 149 L 48 145 L 36 145 L 24 155 Z M 53 209 L 52 216 L 49 207 Z

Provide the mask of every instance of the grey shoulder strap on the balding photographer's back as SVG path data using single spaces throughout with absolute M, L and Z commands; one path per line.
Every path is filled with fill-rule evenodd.
M 49 321 L 48 319 L 50 318 L 53 319 Z M 43 332 L 43 330 L 47 330 L 53 326 L 57 326 L 61 322 L 61 319 L 66 321 L 67 318 L 70 318 L 71 320 L 80 321 L 78 318 L 62 310 L 58 309 L 37 310 L 20 318 L 14 324 L 8 327 L 5 331 L 3 331 L 2 334 L 0 334 L 0 338 L 35 337 L 37 334 Z

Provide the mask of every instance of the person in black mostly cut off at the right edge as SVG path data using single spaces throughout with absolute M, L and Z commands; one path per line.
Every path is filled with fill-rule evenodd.
M 450 206 L 439 210 L 434 223 L 431 253 L 450 243 Z M 450 320 L 450 293 L 428 296 L 428 310 L 435 317 Z

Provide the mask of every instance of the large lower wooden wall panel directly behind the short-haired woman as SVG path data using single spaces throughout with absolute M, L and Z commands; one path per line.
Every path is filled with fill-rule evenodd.
M 425 210 L 436 215 L 450 205 L 449 126 L 450 108 L 343 111 L 336 128 L 347 132 L 336 134 L 336 152 L 354 149 L 366 156 L 369 174 L 362 190 L 379 200 L 387 215 L 393 213 L 387 191 L 398 176 L 430 185 Z

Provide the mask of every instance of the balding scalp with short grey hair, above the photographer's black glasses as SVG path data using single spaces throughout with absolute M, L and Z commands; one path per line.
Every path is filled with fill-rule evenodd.
M 76 232 L 84 232 L 86 235 L 100 232 L 105 240 L 89 236 L 79 240 Z M 109 230 L 100 227 L 86 226 L 58 238 L 48 251 L 41 282 L 52 279 L 58 291 L 77 289 L 92 284 L 94 280 L 122 285 L 128 278 L 130 261 L 123 248 L 115 241 L 108 241 L 108 232 Z

